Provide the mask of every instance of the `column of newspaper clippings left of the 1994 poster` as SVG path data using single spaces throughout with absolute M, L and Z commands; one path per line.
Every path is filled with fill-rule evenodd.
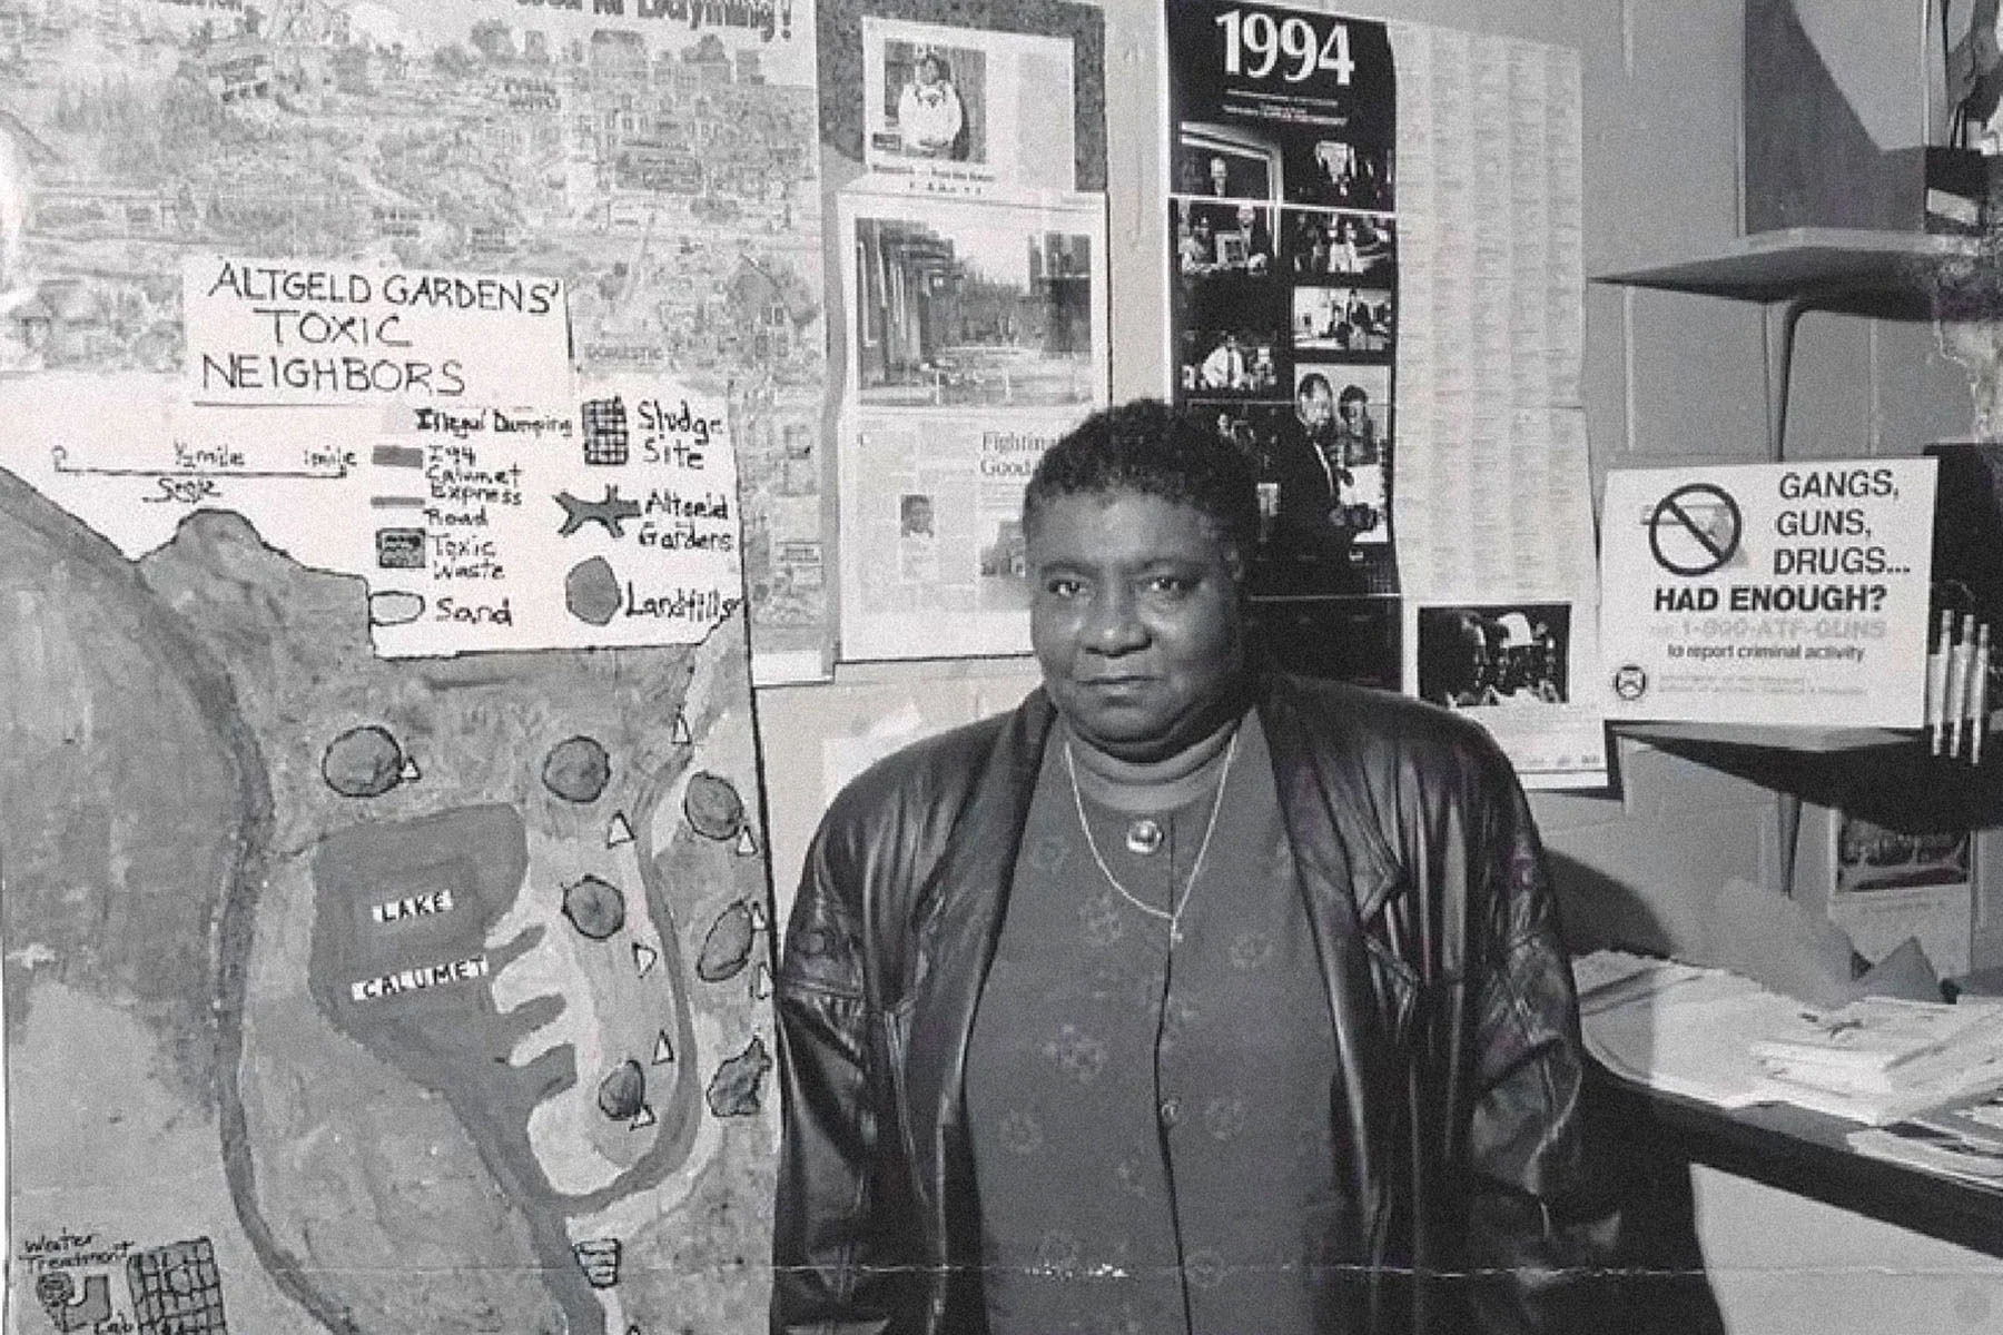
M 1020 654 L 1024 486 L 1108 398 L 1106 196 L 1082 188 L 1078 24 L 865 10 L 855 28 L 855 106 L 839 112 L 859 114 L 843 136 L 859 156 L 835 192 L 831 284 L 839 656 Z

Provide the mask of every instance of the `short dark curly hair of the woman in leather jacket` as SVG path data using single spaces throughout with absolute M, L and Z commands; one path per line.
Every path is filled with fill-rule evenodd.
M 1258 478 L 1244 452 L 1160 398 L 1102 408 L 1038 460 L 1022 494 L 1024 532 L 1058 496 L 1136 492 L 1186 504 L 1250 568 L 1258 544 Z

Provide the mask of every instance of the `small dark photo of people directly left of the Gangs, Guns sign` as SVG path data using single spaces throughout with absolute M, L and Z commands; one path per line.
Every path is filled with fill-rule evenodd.
M 1508 602 L 1418 608 L 1418 693 L 1448 709 L 1564 705 L 1572 608 Z

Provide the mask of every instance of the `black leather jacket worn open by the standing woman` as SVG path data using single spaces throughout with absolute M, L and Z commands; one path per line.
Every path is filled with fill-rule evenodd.
M 1340 1331 L 1588 1327 L 1578 1011 L 1544 855 L 1464 719 L 1262 677 L 1256 709 L 1334 1017 Z M 979 1333 L 961 1115 L 973 1007 L 1054 711 L 883 761 L 807 855 L 777 985 L 775 1333 Z

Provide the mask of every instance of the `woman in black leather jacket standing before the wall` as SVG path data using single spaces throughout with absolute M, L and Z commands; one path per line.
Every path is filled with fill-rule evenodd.
M 777 987 L 773 1331 L 1556 1329 L 1606 1221 L 1528 807 L 1268 671 L 1242 454 L 1158 402 L 1024 498 L 1044 685 L 835 799 Z

